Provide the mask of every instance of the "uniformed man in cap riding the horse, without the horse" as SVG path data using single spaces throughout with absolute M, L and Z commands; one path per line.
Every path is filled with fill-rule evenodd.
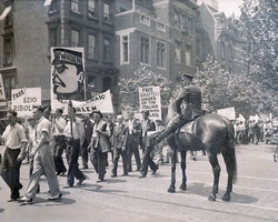
M 175 101 L 175 108 L 178 114 L 173 115 L 166 130 L 155 138 L 156 144 L 187 122 L 203 114 L 201 110 L 201 89 L 193 83 L 193 75 L 190 73 L 182 73 L 181 85 L 182 90 Z M 186 105 L 183 105 L 182 102 Z

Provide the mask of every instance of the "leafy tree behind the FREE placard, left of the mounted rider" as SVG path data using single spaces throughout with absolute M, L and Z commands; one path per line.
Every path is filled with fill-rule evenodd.
M 160 95 L 162 105 L 167 105 L 170 100 L 171 81 L 160 73 L 149 70 L 145 65 L 140 65 L 135 70 L 133 75 L 129 79 L 119 79 L 119 97 L 121 103 L 139 110 L 139 88 L 140 87 L 160 87 Z

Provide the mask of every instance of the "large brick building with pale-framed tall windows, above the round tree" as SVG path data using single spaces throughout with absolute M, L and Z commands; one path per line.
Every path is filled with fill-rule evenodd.
M 197 2 L 122 0 L 116 2 L 116 67 L 130 77 L 141 64 L 176 82 L 196 72 Z

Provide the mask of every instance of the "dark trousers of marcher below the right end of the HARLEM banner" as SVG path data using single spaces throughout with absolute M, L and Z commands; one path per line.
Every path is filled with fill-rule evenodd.
M 106 175 L 107 158 L 107 152 L 101 152 L 99 149 L 92 148 L 90 161 L 100 180 L 103 180 Z

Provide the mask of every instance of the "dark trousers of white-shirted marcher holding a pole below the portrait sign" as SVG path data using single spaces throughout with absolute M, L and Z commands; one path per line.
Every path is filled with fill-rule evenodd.
M 67 144 L 66 157 L 69 164 L 67 182 L 69 185 L 73 185 L 75 178 L 77 180 L 85 178 L 85 174 L 78 168 L 79 149 L 80 140 L 72 140 Z

